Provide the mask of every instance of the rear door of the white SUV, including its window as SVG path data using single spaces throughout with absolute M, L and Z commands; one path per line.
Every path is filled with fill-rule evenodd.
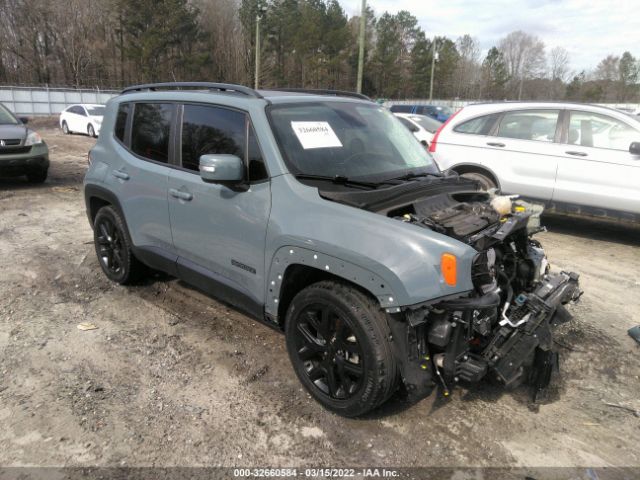
M 502 114 L 485 140 L 482 164 L 497 176 L 503 193 L 551 201 L 560 136 L 559 109 L 514 110 Z

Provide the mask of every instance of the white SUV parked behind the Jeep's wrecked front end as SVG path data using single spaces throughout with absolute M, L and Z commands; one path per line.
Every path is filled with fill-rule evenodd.
M 436 133 L 430 151 L 502 193 L 559 212 L 640 221 L 640 119 L 572 103 L 469 105 Z

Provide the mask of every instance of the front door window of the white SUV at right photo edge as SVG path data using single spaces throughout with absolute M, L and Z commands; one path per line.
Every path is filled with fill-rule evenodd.
M 640 139 L 640 132 L 607 115 L 570 112 L 569 144 L 582 147 L 629 150 Z

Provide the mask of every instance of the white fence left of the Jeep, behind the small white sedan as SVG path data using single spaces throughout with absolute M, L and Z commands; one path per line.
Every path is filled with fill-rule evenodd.
M 33 117 L 57 115 L 74 103 L 106 103 L 117 90 L 0 87 L 0 103 L 16 115 Z

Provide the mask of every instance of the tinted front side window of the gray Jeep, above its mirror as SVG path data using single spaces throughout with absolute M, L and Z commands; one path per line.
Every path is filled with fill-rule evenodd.
M 199 171 L 200 156 L 208 153 L 245 159 L 246 116 L 219 107 L 185 105 L 182 117 L 182 166 Z

